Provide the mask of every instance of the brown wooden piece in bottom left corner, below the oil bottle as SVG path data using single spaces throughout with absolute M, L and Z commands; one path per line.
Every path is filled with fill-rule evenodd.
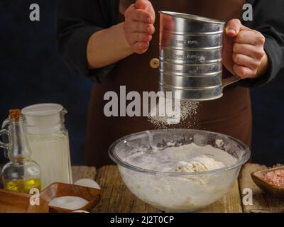
M 40 199 L 39 206 L 32 206 L 31 196 L 0 189 L 0 213 L 48 213 L 48 203 Z

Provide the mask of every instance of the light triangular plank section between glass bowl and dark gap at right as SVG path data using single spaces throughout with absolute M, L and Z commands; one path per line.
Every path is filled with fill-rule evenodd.
M 239 183 L 236 181 L 231 191 L 222 199 L 197 213 L 242 213 Z

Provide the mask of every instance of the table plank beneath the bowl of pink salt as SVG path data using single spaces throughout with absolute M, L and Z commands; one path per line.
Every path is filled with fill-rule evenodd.
M 273 196 L 271 196 L 270 194 L 264 193 L 256 186 L 256 184 L 254 184 L 253 180 L 251 179 L 251 172 L 258 170 L 267 170 L 267 168 L 268 167 L 266 167 L 265 165 L 246 164 L 241 171 L 241 175 L 239 177 L 241 192 L 243 192 L 243 190 L 246 188 L 249 188 L 253 191 L 253 205 L 243 205 L 243 210 L 246 213 L 284 212 L 284 199 L 273 198 Z M 241 194 L 241 196 L 244 197 L 243 194 Z

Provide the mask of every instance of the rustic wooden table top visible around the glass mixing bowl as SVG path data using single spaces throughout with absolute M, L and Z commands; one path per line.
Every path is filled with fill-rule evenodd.
M 284 199 L 274 199 L 258 189 L 251 179 L 251 172 L 265 170 L 266 166 L 246 164 L 241 171 L 239 180 L 231 191 L 216 203 L 198 213 L 250 213 L 250 212 L 284 212 Z M 99 170 L 94 167 L 73 167 L 74 180 L 82 178 L 95 179 L 102 187 L 102 199 L 93 212 L 101 213 L 159 213 L 152 206 L 137 199 L 126 188 L 115 165 L 104 166 Z M 241 202 L 246 194 L 244 189 L 252 189 L 253 205 L 244 206 Z

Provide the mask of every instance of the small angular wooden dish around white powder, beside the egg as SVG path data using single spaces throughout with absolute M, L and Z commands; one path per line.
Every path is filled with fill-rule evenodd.
M 63 184 L 63 183 L 54 183 L 49 187 L 43 190 L 40 193 L 40 198 L 45 199 L 45 201 L 50 203 L 55 198 L 62 196 L 77 196 L 82 199 L 86 199 L 89 203 L 86 206 L 80 208 L 83 211 L 92 211 L 94 206 L 99 203 L 101 199 L 102 190 L 92 189 L 89 187 L 82 187 L 74 184 Z M 50 213 L 70 213 L 74 210 L 62 209 L 55 206 L 49 206 Z

